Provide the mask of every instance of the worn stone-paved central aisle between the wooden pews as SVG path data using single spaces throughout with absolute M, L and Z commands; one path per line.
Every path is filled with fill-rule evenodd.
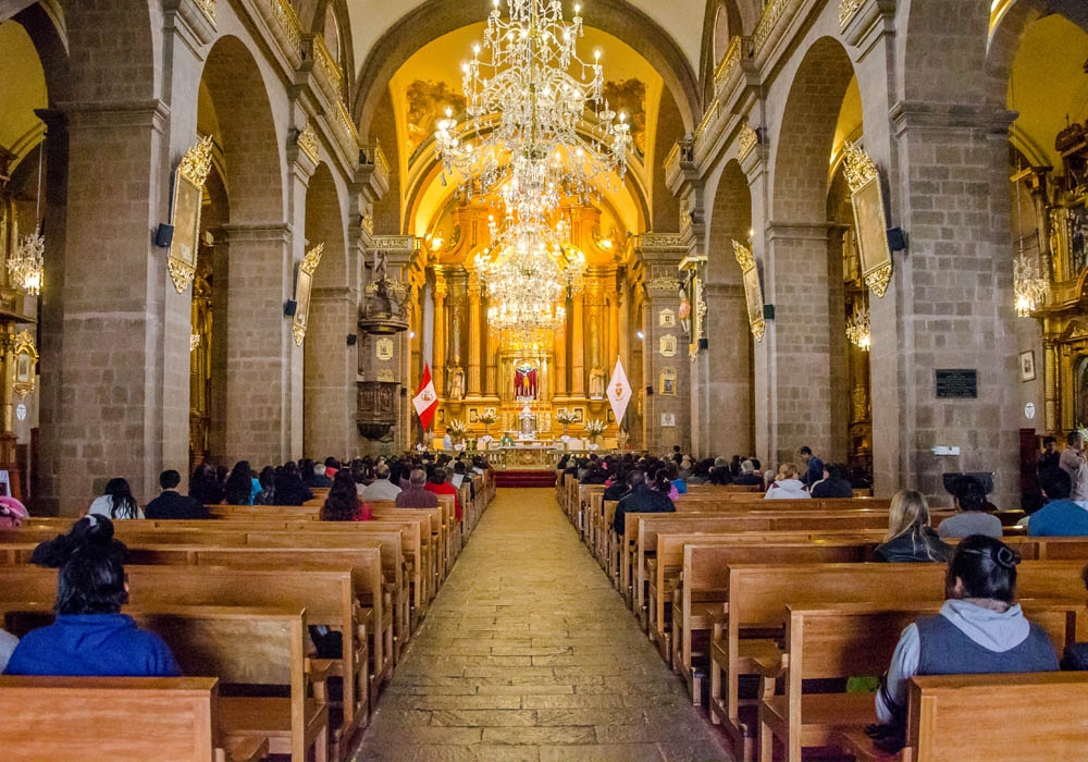
M 726 760 L 555 501 L 504 489 L 356 760 Z

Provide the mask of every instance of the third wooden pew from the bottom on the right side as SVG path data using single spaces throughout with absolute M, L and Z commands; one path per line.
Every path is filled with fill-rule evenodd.
M 1084 605 L 1083 562 L 1024 562 L 1023 598 Z M 944 564 L 735 564 L 728 567 L 722 616 L 710 646 L 710 720 L 722 723 L 743 759 L 752 758 L 754 728 L 740 716 L 741 675 L 777 674 L 781 652 L 770 637 L 781 632 L 787 606 L 829 606 L 864 601 L 943 599 Z

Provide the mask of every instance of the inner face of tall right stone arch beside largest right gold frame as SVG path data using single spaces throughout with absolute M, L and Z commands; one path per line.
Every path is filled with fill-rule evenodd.
M 842 45 L 816 40 L 790 86 L 775 147 L 770 222 L 764 258 L 766 300 L 775 305 L 766 348 L 768 372 L 756 376 L 759 452 L 795 459 L 809 445 L 825 459 L 844 459 L 832 434 L 836 389 L 843 383 L 841 330 L 832 323 L 832 295 L 841 288 L 841 258 L 828 257 L 828 163 L 836 126 L 854 69 Z M 841 304 L 834 305 L 836 312 Z M 841 318 L 838 322 L 841 329 Z M 766 446 L 762 444 L 766 443 Z

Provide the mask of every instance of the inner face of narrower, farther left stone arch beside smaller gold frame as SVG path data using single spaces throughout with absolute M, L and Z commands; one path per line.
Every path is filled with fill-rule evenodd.
M 313 275 L 307 321 L 304 391 L 302 454 L 323 460 L 355 452 L 356 347 L 348 334 L 358 334 L 356 268 L 345 246 L 343 205 L 332 173 L 318 164 L 306 194 L 307 249 L 323 245 Z M 362 341 L 363 336 L 358 336 Z

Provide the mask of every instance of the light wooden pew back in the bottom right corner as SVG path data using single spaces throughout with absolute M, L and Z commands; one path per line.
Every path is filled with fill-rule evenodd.
M 1088 749 L 1086 717 L 1083 672 L 916 677 L 903 762 L 1075 760 Z

